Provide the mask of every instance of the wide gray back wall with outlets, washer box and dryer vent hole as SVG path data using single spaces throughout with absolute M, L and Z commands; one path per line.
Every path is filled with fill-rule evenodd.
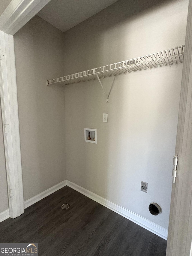
M 160 2 L 118 1 L 65 32 L 64 74 L 183 45 L 188 1 Z M 168 228 L 181 77 L 182 64 L 116 76 L 109 103 L 97 80 L 65 86 L 67 179 Z

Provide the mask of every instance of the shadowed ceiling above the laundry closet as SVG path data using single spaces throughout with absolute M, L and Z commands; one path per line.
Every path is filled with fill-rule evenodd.
M 117 0 L 51 0 L 38 16 L 65 32 Z

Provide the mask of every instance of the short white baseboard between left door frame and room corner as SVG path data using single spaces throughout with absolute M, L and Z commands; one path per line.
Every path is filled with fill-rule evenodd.
M 55 185 L 55 186 L 53 186 L 53 187 L 51 187 L 51 188 L 48 188 L 47 190 L 43 191 L 42 193 L 40 193 L 40 194 L 38 194 L 38 195 L 36 195 L 36 196 L 34 196 L 34 197 L 32 197 L 32 198 L 26 200 L 26 201 L 24 202 L 24 207 L 25 207 L 25 209 L 26 209 L 27 207 L 31 206 L 32 204 L 37 203 L 37 202 L 40 201 L 41 199 L 43 199 L 43 198 L 49 196 L 50 194 L 54 193 L 55 191 L 59 190 L 60 188 L 63 188 L 63 187 L 66 186 L 66 185 L 67 185 L 67 181 L 64 180 L 64 181 L 58 183 L 57 185 Z

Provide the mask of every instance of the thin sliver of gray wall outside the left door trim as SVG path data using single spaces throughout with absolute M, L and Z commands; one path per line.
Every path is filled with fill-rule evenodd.
M 3 128 L 1 119 L 1 106 L 0 106 L 0 212 L 9 208 L 8 195 L 7 195 L 7 179 L 5 169 L 5 154 L 3 143 Z

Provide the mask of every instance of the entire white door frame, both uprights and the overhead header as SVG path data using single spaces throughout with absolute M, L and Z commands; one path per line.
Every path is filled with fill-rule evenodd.
M 24 212 L 13 35 L 50 0 L 12 0 L 0 16 L 2 74 L 0 94 L 4 129 L 10 217 Z M 172 188 L 167 256 L 192 255 L 192 0 L 189 0 L 185 57 L 176 139 L 179 153 L 176 183 Z M 7 127 L 6 127 L 7 128 Z M 171 170 L 170 170 L 171 175 Z M 15 191 L 14 191 L 15 190 Z M 15 192 L 15 193 L 14 193 Z

